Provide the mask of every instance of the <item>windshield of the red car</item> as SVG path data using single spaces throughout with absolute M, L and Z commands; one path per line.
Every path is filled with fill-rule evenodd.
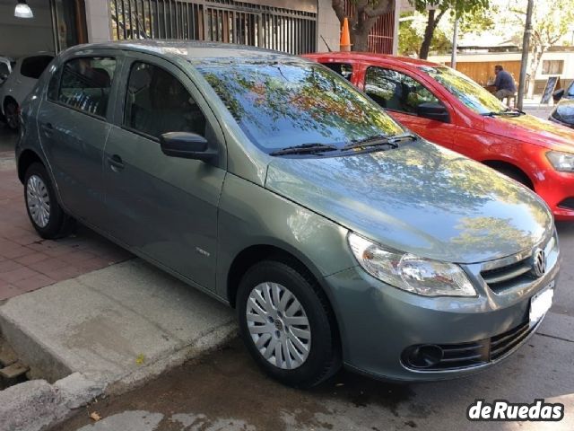
M 453 94 L 466 107 L 478 112 L 488 114 L 491 112 L 504 112 L 508 107 L 499 101 L 491 92 L 476 84 L 468 76 L 457 72 L 447 66 L 421 67 L 434 80 L 438 81 L 448 92 Z

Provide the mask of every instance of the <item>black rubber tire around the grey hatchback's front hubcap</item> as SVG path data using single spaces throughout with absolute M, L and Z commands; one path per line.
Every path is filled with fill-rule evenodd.
M 309 321 L 311 333 L 309 354 L 296 368 L 283 369 L 265 359 L 249 332 L 248 298 L 256 286 L 265 282 L 276 283 L 288 289 L 289 293 L 294 295 L 302 305 Z M 239 331 L 249 353 L 265 373 L 279 382 L 293 387 L 309 388 L 325 381 L 335 374 L 341 366 L 335 319 L 327 303 L 326 295 L 307 271 L 300 268 L 300 265 L 296 263 L 287 264 L 279 260 L 265 260 L 257 263 L 249 268 L 241 279 L 236 305 Z M 273 325 L 273 323 L 270 324 Z M 289 338 L 287 332 L 291 329 L 287 323 L 285 323 L 284 328 L 282 325 L 281 330 L 285 331 L 285 338 Z M 278 334 L 279 330 L 275 332 Z

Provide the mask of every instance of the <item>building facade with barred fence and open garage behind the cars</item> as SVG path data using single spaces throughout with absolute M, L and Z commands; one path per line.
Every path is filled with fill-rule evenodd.
M 0 55 L 58 52 L 85 42 L 187 39 L 240 43 L 304 54 L 338 50 L 340 22 L 330 0 L 28 0 L 32 19 L 0 0 Z M 352 10 L 352 0 L 347 0 Z M 396 52 L 397 13 L 381 16 L 373 52 Z M 3 37 L 4 36 L 4 37 Z

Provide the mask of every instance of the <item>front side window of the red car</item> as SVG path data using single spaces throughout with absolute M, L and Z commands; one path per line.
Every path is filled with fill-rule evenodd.
M 422 103 L 438 103 L 427 88 L 408 75 L 382 67 L 369 67 L 365 76 L 365 92 L 386 110 L 416 114 Z

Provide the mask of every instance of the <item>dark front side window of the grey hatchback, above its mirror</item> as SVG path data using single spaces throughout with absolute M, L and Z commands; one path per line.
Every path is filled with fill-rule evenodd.
M 136 62 L 129 75 L 124 125 L 159 138 L 167 132 L 204 136 L 205 117 L 178 79 L 161 67 Z

